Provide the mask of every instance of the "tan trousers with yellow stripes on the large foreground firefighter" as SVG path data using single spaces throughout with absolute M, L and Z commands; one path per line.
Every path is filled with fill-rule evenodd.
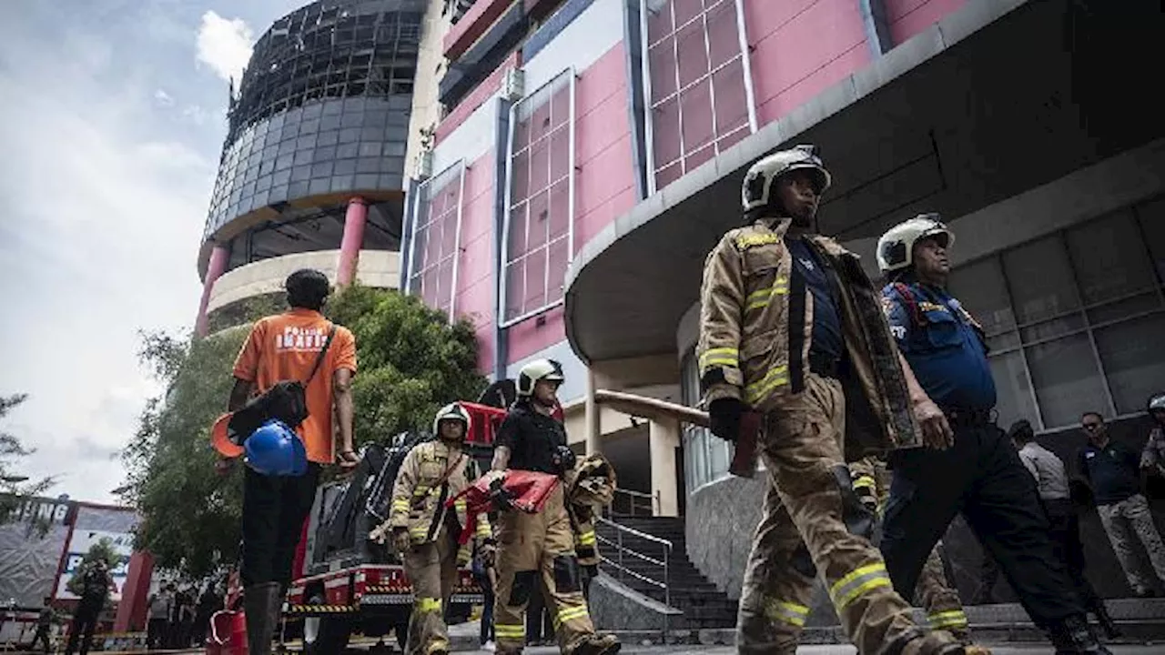
M 861 536 L 874 516 L 854 494 L 845 466 L 841 383 L 806 374 L 805 390 L 791 402 L 765 416 L 761 438 L 768 493 L 744 570 L 739 652 L 795 653 L 818 573 L 859 653 L 916 647 L 925 632 L 894 591 L 882 555 Z

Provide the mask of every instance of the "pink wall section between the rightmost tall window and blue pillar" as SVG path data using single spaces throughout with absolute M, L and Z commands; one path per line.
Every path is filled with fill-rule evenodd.
M 854 0 L 746 0 L 757 122 L 781 119 L 870 61 Z

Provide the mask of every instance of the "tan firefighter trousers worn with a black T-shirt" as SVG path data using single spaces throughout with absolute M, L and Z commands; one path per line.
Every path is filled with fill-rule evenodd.
M 566 655 L 594 635 L 582 598 L 574 534 L 566 514 L 563 486 L 550 493 L 542 512 L 517 509 L 497 520 L 497 597 L 494 634 L 497 653 L 521 653 L 525 646 L 525 608 L 542 593 L 558 646 Z

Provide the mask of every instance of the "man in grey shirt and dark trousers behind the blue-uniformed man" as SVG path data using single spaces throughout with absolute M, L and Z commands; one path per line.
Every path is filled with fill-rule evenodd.
M 1068 473 L 1064 462 L 1036 443 L 1036 431 L 1028 421 L 1012 423 L 1008 429 L 1008 436 L 1019 451 L 1019 462 L 1023 462 L 1024 467 L 1036 480 L 1036 492 L 1051 526 L 1048 536 L 1052 537 L 1052 547 L 1060 561 L 1067 565 L 1068 576 L 1076 587 L 1080 600 L 1086 610 L 1096 614 L 1096 620 L 1109 639 L 1121 636 L 1113 618 L 1108 615 L 1104 601 L 1085 576 L 1085 544 L 1080 541 L 1080 516 L 1076 514 L 1075 503 L 1072 502 Z

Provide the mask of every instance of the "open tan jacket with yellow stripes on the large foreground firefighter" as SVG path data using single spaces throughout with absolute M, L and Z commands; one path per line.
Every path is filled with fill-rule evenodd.
M 705 406 L 734 397 L 768 413 L 805 388 L 813 295 L 785 248 L 790 223 L 758 219 L 725 234 L 708 253 L 697 346 Z M 881 294 L 857 255 L 828 237 L 806 238 L 840 291 L 847 458 L 923 445 Z

